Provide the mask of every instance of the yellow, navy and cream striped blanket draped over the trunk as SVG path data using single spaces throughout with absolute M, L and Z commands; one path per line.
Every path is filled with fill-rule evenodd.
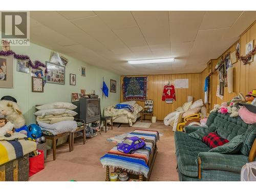
M 0 141 L 0 165 L 18 159 L 36 150 L 36 142 L 19 139 L 18 141 Z

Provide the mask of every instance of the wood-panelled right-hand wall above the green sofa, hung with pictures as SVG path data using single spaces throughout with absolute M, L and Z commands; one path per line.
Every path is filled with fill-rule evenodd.
M 256 23 L 254 22 L 251 27 L 249 27 L 242 35 L 239 41 L 234 43 L 228 50 L 226 50 L 222 55 L 220 55 L 217 59 L 213 59 L 215 67 L 217 62 L 224 57 L 226 53 L 233 52 L 236 50 L 237 43 L 240 43 L 241 55 L 245 55 L 245 45 L 254 39 L 254 45 L 256 40 Z M 256 89 L 256 55 L 253 57 L 253 62 L 250 62 L 248 65 L 243 65 L 243 62 L 237 61 L 233 63 L 233 93 L 227 92 L 227 87 L 224 87 L 224 97 L 223 100 L 219 97 L 216 97 L 217 85 L 219 84 L 218 72 L 215 72 L 211 76 L 211 108 L 214 104 L 221 104 L 222 102 L 231 100 L 234 96 L 237 96 L 239 93 L 242 93 L 244 96 L 251 91 L 252 89 Z M 205 79 L 207 76 L 207 69 L 202 71 L 201 73 L 201 81 Z M 203 90 L 201 92 L 201 96 L 203 95 Z

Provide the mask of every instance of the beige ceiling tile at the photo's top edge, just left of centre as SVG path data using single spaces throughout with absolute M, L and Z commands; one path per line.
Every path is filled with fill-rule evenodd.
M 131 11 L 95 11 L 95 13 L 113 30 L 137 27 Z

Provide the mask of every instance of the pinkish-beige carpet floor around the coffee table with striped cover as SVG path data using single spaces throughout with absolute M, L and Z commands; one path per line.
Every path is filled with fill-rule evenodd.
M 150 121 L 143 121 L 150 122 Z M 86 144 L 80 144 L 81 138 L 75 139 L 74 151 L 69 152 L 68 144 L 57 146 L 56 160 L 52 160 L 52 151 L 48 151 L 45 169 L 29 178 L 29 181 L 104 181 L 105 168 L 100 164 L 99 158 L 108 152 L 115 143 L 106 139 L 131 132 L 136 127 L 117 126 L 107 133 L 87 139 Z M 174 133 L 170 126 L 162 121 L 152 123 L 147 130 L 157 130 L 160 137 L 158 154 L 153 167 L 150 181 L 178 181 L 176 170 Z

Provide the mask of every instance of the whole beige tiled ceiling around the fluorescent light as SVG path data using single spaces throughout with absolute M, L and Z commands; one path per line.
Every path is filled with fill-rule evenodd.
M 197 73 L 256 11 L 31 11 L 31 41 L 119 75 Z M 175 57 L 171 63 L 127 60 Z

